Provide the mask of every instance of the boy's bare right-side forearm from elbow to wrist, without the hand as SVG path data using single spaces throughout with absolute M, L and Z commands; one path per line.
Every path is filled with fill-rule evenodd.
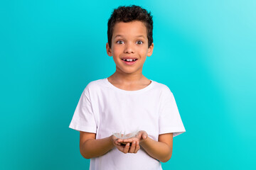
M 147 137 L 146 140 L 140 142 L 140 145 L 151 157 L 154 157 L 160 162 L 167 162 L 171 159 L 172 147 L 169 147 L 164 142 L 157 142 Z

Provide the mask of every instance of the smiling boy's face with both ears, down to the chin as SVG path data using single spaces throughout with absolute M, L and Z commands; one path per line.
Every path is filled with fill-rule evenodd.
M 112 48 L 106 45 L 107 55 L 113 56 L 117 72 L 122 74 L 142 74 L 146 56 L 151 56 L 154 44 L 148 47 L 146 26 L 141 21 L 116 23 L 112 35 Z M 124 58 L 136 58 L 135 62 L 125 62 Z

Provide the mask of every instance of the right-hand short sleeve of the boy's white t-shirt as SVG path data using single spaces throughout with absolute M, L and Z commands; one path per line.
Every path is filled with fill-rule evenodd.
M 164 133 L 173 133 L 173 137 L 186 132 L 181 115 L 178 113 L 178 107 L 168 86 L 164 89 L 161 98 L 159 113 L 159 135 Z

